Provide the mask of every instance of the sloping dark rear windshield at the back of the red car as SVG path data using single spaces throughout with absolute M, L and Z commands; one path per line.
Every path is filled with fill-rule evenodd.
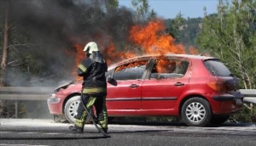
M 207 70 L 212 73 L 213 76 L 230 76 L 230 70 L 218 59 L 210 59 L 204 61 L 204 65 Z

